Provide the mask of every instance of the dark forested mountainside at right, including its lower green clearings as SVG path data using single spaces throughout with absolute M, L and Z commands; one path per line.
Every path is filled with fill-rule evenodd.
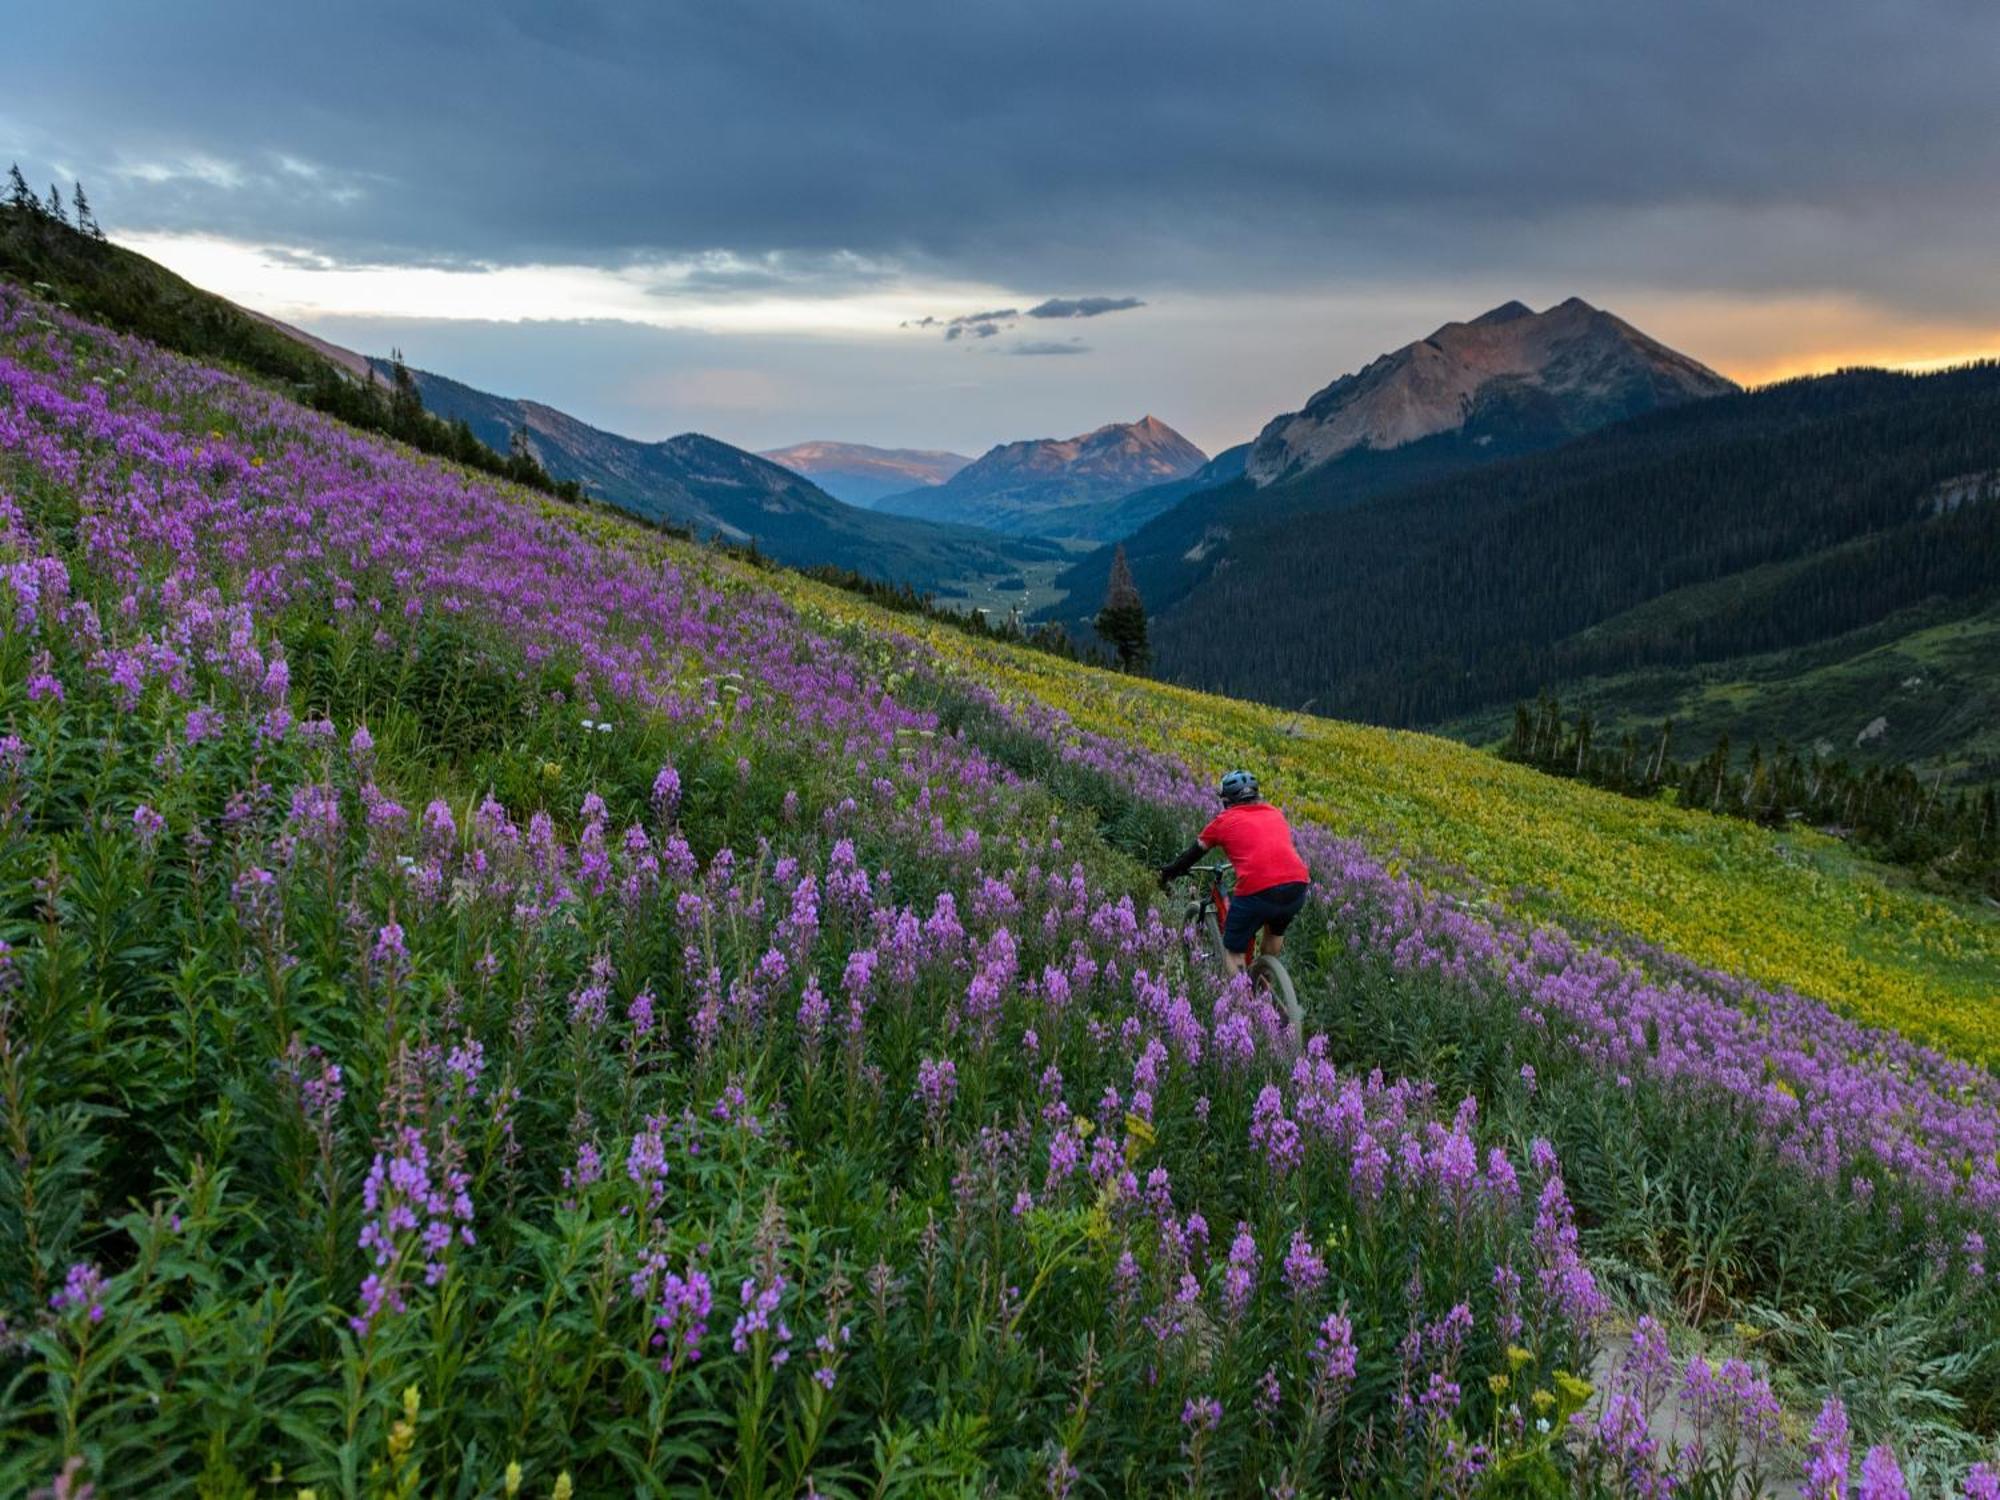
M 1472 738 L 1550 688 L 1602 744 L 1672 720 L 1690 758 L 1726 734 L 2000 780 L 2000 364 L 1682 402 L 1244 522 L 1222 558 L 1152 620 L 1188 686 Z M 1216 630 L 1272 602 L 1264 650 Z

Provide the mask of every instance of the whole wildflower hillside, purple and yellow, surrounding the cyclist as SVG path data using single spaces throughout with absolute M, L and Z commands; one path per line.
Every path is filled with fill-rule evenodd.
M 4 1492 L 1720 1500 L 1828 1400 L 2000 1432 L 2000 1082 L 1580 884 L 1992 974 L 1866 872 L 912 634 L 6 288 L 0 622 Z M 1304 1048 L 1146 870 L 1234 760 Z M 1668 1358 L 1698 1454 L 1616 1420 Z

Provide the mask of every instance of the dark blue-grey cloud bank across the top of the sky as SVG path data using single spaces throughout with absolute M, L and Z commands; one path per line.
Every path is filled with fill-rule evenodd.
M 1976 0 L 110 0 L 8 44 L 36 180 L 340 262 L 2000 294 Z

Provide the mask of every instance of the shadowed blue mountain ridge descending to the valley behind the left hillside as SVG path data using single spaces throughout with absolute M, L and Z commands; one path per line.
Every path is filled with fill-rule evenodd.
M 388 370 L 382 360 L 374 366 Z M 502 452 L 514 432 L 526 432 L 528 448 L 558 480 L 576 480 L 590 496 L 650 520 L 756 542 L 778 562 L 852 568 L 932 588 L 1010 574 L 1054 554 L 1046 542 L 860 510 L 780 464 L 698 432 L 640 442 L 542 402 L 494 396 L 428 370 L 410 374 L 428 410 L 464 420 Z

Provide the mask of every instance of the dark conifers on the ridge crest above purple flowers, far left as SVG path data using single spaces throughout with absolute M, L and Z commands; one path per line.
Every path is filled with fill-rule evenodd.
M 350 426 L 562 500 L 584 498 L 580 484 L 542 468 L 526 432 L 516 432 L 502 454 L 480 442 L 466 422 L 426 412 L 400 354 L 386 384 L 374 370 L 354 376 L 224 298 L 110 244 L 82 182 L 64 210 L 54 186 L 48 198 L 38 198 L 20 166 L 8 172 L 8 194 L 0 202 L 0 274 L 44 284 L 80 316 L 118 332 L 282 382 L 298 400 Z

